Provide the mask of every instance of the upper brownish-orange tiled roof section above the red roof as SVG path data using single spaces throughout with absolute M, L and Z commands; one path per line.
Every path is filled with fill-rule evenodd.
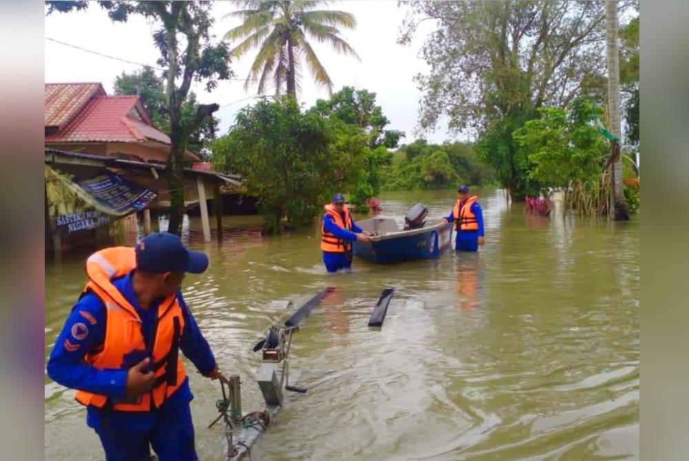
M 100 83 L 46 83 L 45 126 L 63 127 L 96 95 L 105 96 Z

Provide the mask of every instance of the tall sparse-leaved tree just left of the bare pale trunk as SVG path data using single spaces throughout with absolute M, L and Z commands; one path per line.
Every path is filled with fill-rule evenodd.
M 511 133 L 535 110 L 564 106 L 584 91 L 604 92 L 604 2 L 411 1 L 400 42 L 433 19 L 422 54 L 430 66 L 416 81 L 424 92 L 420 127 L 475 131 L 484 160 L 511 195 L 528 192 L 528 169 Z M 626 4 L 621 4 L 624 8 Z

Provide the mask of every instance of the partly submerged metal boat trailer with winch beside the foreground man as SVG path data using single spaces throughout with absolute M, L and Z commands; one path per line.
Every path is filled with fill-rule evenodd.
M 260 352 L 262 358 L 256 382 L 265 400 L 263 409 L 244 414 L 240 377 L 233 375 L 226 378 L 220 375 L 223 400 L 218 400 L 216 404 L 220 416 L 209 425 L 209 428 L 220 419 L 225 422 L 226 461 L 240 460 L 247 453 L 250 456 L 251 446 L 270 427 L 282 408 L 285 400 L 283 389 L 299 393 L 307 391 L 305 388 L 289 384 L 289 347 L 292 335 L 298 331 L 300 321 L 333 290 L 334 288 L 325 288 L 296 310 L 284 324 L 271 325 L 265 339 L 258 341 L 254 346 L 254 352 Z M 291 301 L 285 301 L 285 307 L 289 308 L 291 305 Z

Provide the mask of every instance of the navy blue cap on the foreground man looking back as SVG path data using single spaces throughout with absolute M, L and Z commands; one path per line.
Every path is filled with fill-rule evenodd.
M 154 232 L 136 244 L 136 268 L 151 274 L 191 272 L 200 274 L 208 268 L 205 253 L 189 251 L 181 239 L 171 233 Z

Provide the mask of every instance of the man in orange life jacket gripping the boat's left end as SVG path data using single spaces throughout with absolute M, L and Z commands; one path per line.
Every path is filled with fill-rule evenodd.
M 345 196 L 333 195 L 333 202 L 325 207 L 320 227 L 320 250 L 323 264 L 328 272 L 351 270 L 351 247 L 353 240 L 370 242 L 371 238 L 356 225 L 345 206 Z

